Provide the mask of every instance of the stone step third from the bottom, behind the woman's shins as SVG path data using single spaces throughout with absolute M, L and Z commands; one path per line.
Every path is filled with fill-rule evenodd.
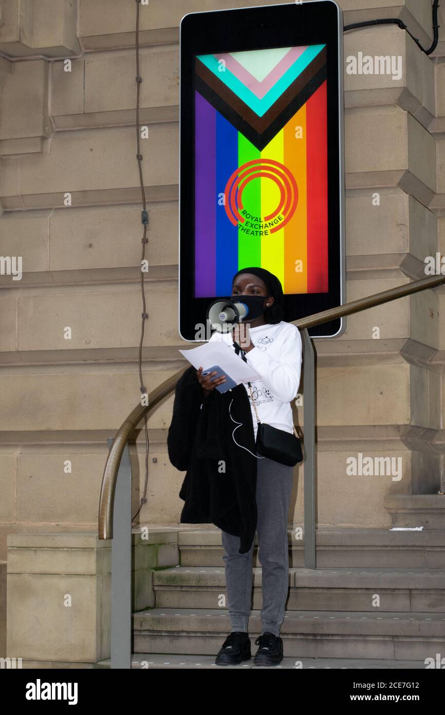
M 262 569 L 252 569 L 253 608 L 262 606 Z M 156 607 L 214 608 L 226 594 L 224 568 L 174 566 L 154 571 Z M 445 573 L 408 568 L 289 568 L 288 611 L 374 611 L 440 613 L 445 604 Z

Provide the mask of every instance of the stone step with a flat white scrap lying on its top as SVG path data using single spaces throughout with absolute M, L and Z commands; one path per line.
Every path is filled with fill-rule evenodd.
M 288 530 L 289 567 L 304 567 L 304 539 Z M 258 536 L 252 565 L 259 561 Z M 224 566 L 221 531 L 178 531 L 181 566 Z M 390 528 L 321 528 L 316 533 L 319 568 L 444 568 L 445 531 L 391 531 Z

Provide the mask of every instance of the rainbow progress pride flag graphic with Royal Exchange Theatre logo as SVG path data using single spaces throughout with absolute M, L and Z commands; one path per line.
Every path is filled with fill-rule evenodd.
M 195 297 L 249 265 L 328 290 L 325 45 L 196 57 Z

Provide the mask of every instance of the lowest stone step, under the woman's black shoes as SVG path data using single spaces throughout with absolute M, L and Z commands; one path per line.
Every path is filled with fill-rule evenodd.
M 236 666 L 217 666 L 215 655 L 181 655 L 171 653 L 134 653 L 131 659 L 132 669 L 251 669 L 281 668 L 301 670 L 346 669 L 346 670 L 424 670 L 424 661 L 391 661 L 384 659 L 346 659 L 346 658 L 284 658 L 278 666 L 254 666 L 254 655 L 258 646 L 252 640 L 252 658 Z M 101 667 L 110 667 L 111 661 L 100 661 Z M 99 664 L 98 664 L 99 665 Z

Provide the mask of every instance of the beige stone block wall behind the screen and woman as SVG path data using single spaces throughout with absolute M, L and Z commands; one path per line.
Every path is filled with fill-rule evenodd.
M 178 349 L 188 345 L 177 315 L 179 22 L 259 4 L 141 6 L 148 390 L 185 365 Z M 400 17 L 431 44 L 430 0 L 339 5 L 344 24 Z M 23 257 L 20 281 L 0 275 L 1 560 L 9 533 L 96 528 L 106 438 L 139 400 L 141 192 L 134 0 L 7 0 L 0 9 L 0 255 Z M 445 6 L 439 22 L 431 56 L 394 25 L 344 36 L 348 301 L 424 276 L 425 257 L 445 251 Z M 401 78 L 347 74 L 359 51 L 401 56 Z M 339 339 L 316 341 L 319 526 L 389 526 L 386 495 L 444 487 L 444 296 L 376 307 L 350 317 Z M 173 395 L 149 418 L 140 513 L 149 526 L 174 526 L 183 506 L 184 474 L 166 452 L 172 406 Z M 359 453 L 401 457 L 401 478 L 347 475 L 346 459 Z M 131 458 L 136 511 L 143 433 Z M 303 518 L 303 479 L 297 468 L 290 523 Z

